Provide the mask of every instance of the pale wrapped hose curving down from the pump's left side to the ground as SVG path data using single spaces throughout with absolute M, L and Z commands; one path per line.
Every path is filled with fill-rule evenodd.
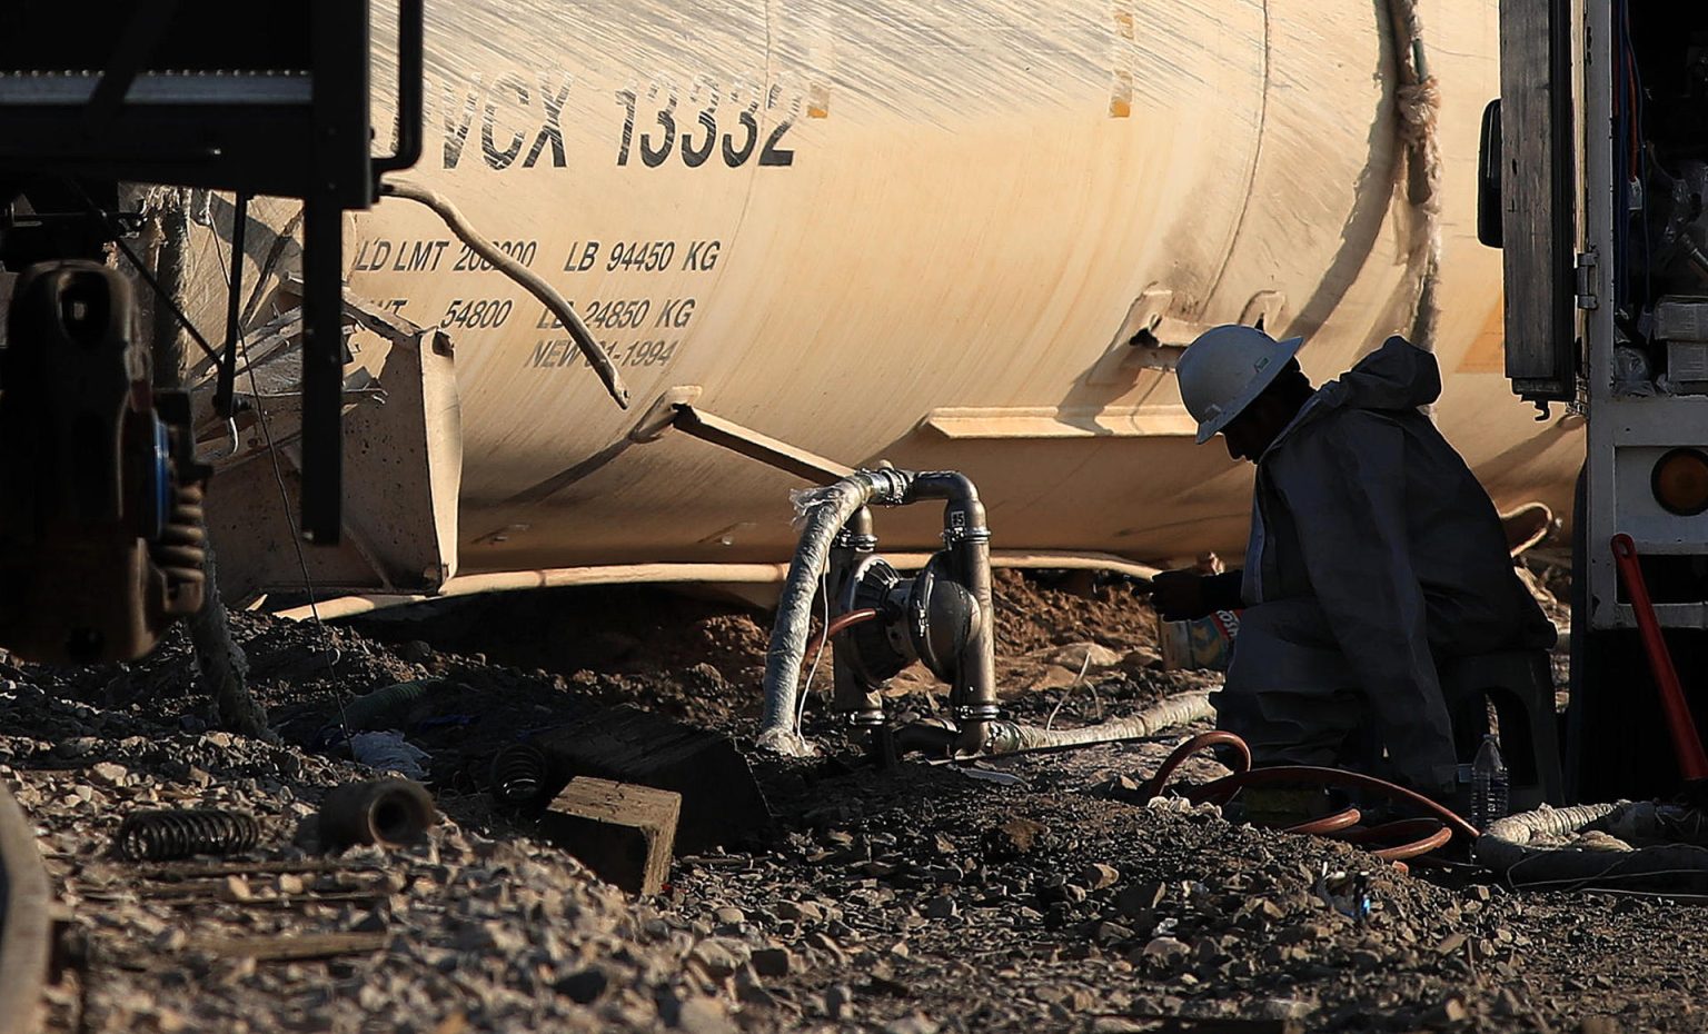
M 868 502 L 904 502 L 914 475 L 902 470 L 857 470 L 827 485 L 798 492 L 801 542 L 789 561 L 789 578 L 777 602 L 777 622 L 765 649 L 765 713 L 755 745 L 786 757 L 810 757 L 813 745 L 796 723 L 801 701 L 801 658 L 813 620 L 813 596 L 830 557 L 830 545 L 859 508 Z

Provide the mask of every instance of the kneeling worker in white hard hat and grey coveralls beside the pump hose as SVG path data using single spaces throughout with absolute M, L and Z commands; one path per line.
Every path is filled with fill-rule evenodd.
M 1554 629 L 1494 504 L 1418 408 L 1442 393 L 1435 355 L 1392 337 L 1313 390 L 1301 344 L 1218 326 L 1180 357 L 1199 444 L 1221 432 L 1257 491 L 1245 569 L 1165 571 L 1153 598 L 1170 620 L 1245 608 L 1216 714 L 1255 764 L 1385 766 L 1445 796 L 1457 757 L 1438 665 L 1547 648 Z

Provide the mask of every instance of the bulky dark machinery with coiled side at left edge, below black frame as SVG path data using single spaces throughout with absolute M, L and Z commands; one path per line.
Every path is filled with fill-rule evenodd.
M 150 386 L 130 284 L 32 267 L 0 352 L 0 643 L 20 656 L 142 656 L 202 607 L 190 398 Z

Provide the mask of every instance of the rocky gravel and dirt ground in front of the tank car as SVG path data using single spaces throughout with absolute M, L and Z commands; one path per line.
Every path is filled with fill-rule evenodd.
M 1160 670 L 1155 619 L 1119 585 L 1004 574 L 999 598 L 1016 714 L 1078 725 L 1213 684 Z M 827 757 L 753 761 L 774 825 L 678 858 L 663 896 L 634 901 L 494 814 L 485 766 L 617 701 L 743 743 L 763 615 L 606 590 L 333 629 L 239 615 L 236 632 L 278 743 L 208 731 L 179 641 L 135 667 L 0 665 L 0 779 L 63 911 L 50 1031 L 1708 1029 L 1694 908 L 1404 875 L 1131 800 L 1122 778 L 1168 742 L 876 771 L 813 709 Z M 321 795 L 374 773 L 318 749 L 325 730 L 410 679 L 442 680 L 396 716 L 430 754 L 442 822 L 417 848 L 326 855 Z M 914 677 L 893 697 L 941 702 Z M 260 846 L 111 855 L 128 812 L 171 803 L 253 812 Z M 1325 868 L 1363 878 L 1366 916 L 1325 901 Z

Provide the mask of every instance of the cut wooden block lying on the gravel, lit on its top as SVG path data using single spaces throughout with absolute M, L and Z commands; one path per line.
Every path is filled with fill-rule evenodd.
M 651 896 L 670 878 L 680 814 L 680 793 L 577 776 L 547 808 L 540 832 L 601 880 Z

